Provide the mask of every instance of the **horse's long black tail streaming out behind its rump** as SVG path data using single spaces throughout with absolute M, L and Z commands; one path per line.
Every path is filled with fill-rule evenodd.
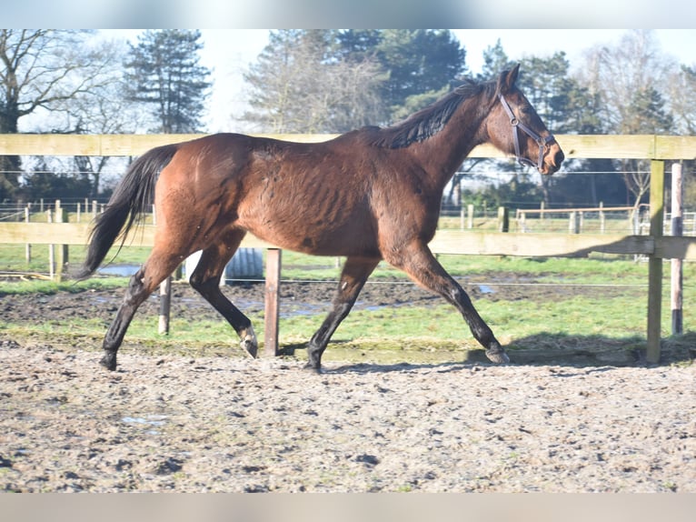
M 154 200 L 154 185 L 160 171 L 167 166 L 178 146 L 159 146 L 138 157 L 125 173 L 121 183 L 114 189 L 104 212 L 96 216 L 94 228 L 89 235 L 89 249 L 77 279 L 85 279 L 104 261 L 104 257 L 122 238 L 124 245 L 128 231 L 142 219 L 147 207 Z M 125 226 L 124 226 L 125 225 Z

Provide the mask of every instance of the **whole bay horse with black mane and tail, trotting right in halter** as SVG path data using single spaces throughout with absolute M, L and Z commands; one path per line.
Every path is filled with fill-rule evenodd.
M 116 352 L 135 310 L 197 250 L 203 253 L 191 285 L 256 356 L 249 318 L 219 286 L 224 266 L 248 232 L 281 248 L 346 257 L 333 309 L 309 341 L 308 368 L 321 371 L 329 339 L 381 260 L 455 306 L 492 362 L 509 362 L 428 243 L 442 192 L 474 146 L 490 143 L 542 175 L 561 166 L 561 147 L 515 85 L 518 72 L 516 65 L 497 80 L 468 82 L 396 125 L 367 126 L 322 143 L 217 134 L 138 157 L 96 217 L 77 275 L 92 275 L 154 199 L 154 246 L 130 279 L 104 336 L 100 364 L 116 368 Z

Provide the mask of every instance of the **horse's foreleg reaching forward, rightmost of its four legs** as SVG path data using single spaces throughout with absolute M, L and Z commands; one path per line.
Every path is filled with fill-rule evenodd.
M 460 311 L 472 335 L 486 349 L 486 356 L 494 363 L 508 363 L 509 357 L 495 338 L 491 328 L 473 307 L 471 298 L 425 245 L 413 245 L 386 259 L 397 268 L 401 268 L 413 280 L 440 294 Z

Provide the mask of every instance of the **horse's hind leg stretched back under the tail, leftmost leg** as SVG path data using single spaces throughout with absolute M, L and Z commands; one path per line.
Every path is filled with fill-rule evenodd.
M 100 361 L 102 366 L 110 370 L 116 369 L 116 352 L 124 341 L 125 331 L 133 320 L 135 310 L 166 277 L 174 272 L 180 262 L 180 256 L 163 254 L 155 247 L 144 266 L 131 277 L 125 291 L 124 302 L 118 308 L 114 321 L 104 336 L 102 345 L 104 356 Z

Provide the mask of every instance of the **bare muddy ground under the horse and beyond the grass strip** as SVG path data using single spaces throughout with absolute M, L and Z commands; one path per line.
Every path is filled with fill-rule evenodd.
M 489 291 L 468 289 L 474 298 Z M 325 309 L 333 293 L 325 284 L 282 290 L 286 308 Z M 534 291 L 557 298 L 559 289 Z M 499 286 L 486 298 L 515 298 L 509 292 L 530 290 Z M 263 308 L 262 285 L 225 293 Z M 86 308 L 86 298 L 102 306 Z M 110 320 L 121 298 L 0 296 L 0 319 Z M 415 286 L 368 285 L 359 306 L 437 299 Z M 216 317 L 186 286 L 174 287 L 173 305 L 177 316 Z M 149 300 L 144 313 L 157 306 Z M 315 375 L 297 358 L 128 349 L 107 372 L 100 356 L 0 329 L 0 490 L 696 492 L 688 360 L 368 357 L 327 362 Z

